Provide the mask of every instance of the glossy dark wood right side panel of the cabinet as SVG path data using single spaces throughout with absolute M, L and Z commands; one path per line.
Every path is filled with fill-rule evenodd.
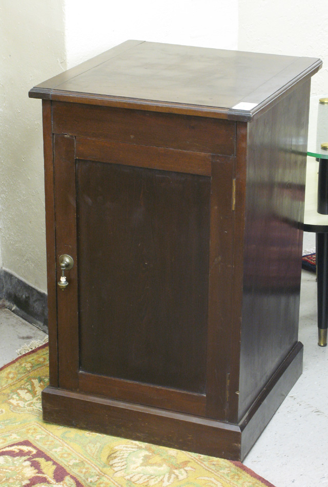
M 309 97 L 248 126 L 239 419 L 297 343 Z

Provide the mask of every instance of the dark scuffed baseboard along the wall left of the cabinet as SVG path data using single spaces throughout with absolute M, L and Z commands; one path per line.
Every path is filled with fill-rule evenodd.
M 0 269 L 0 305 L 48 332 L 47 294 L 6 269 Z

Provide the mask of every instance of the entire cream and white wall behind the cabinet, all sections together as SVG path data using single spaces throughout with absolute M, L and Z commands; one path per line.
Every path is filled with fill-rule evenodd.
M 30 88 L 133 38 L 326 63 L 325 2 L 1 0 L 0 266 L 46 290 L 41 103 Z M 328 92 L 325 65 L 312 86 Z

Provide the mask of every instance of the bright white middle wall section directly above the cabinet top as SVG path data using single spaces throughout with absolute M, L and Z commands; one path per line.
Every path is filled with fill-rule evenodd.
M 128 39 L 237 49 L 238 0 L 66 0 L 65 15 L 69 67 Z

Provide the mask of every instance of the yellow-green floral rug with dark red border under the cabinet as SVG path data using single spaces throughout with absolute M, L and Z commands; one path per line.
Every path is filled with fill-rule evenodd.
M 47 384 L 45 345 L 0 369 L 2 487 L 273 487 L 239 462 L 47 424 Z

